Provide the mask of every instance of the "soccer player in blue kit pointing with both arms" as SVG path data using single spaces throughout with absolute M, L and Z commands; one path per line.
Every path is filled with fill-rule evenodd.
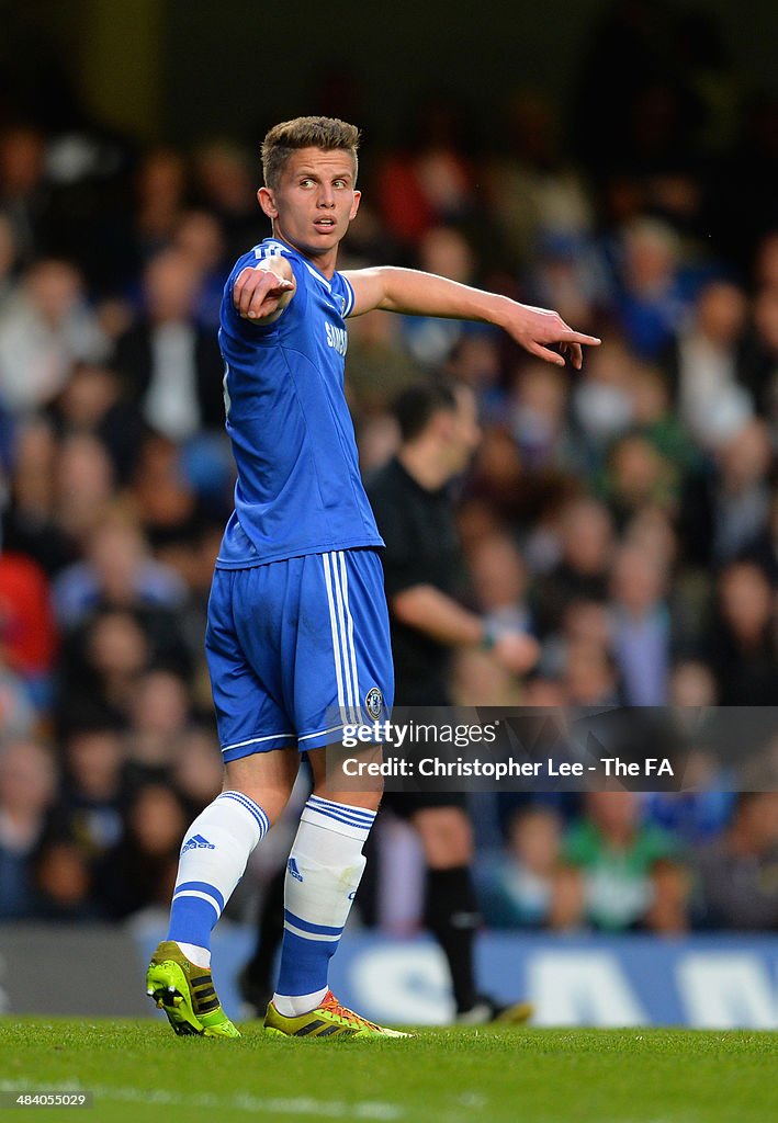
M 225 786 L 186 834 L 168 939 L 147 992 L 177 1033 L 237 1037 L 210 973 L 210 933 L 308 755 L 314 789 L 286 876 L 277 993 L 265 1026 L 286 1035 L 387 1035 L 327 986 L 329 958 L 364 867 L 380 786 L 341 791 L 327 745 L 343 724 L 388 714 L 393 696 L 382 540 L 362 486 L 343 395 L 346 319 L 372 309 L 505 328 L 533 355 L 581 365 L 555 312 L 411 270 L 336 272 L 360 204 L 359 130 L 304 117 L 262 145 L 257 198 L 272 237 L 238 259 L 219 341 L 235 511 L 211 587 L 206 651 Z M 559 345 L 560 351 L 550 349 Z M 333 721 L 332 714 L 338 714 Z

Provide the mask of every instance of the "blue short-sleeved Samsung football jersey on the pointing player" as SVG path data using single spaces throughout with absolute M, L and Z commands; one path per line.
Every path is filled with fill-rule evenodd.
M 246 266 L 277 254 L 291 264 L 297 291 L 274 323 L 260 327 L 239 317 L 233 287 Z M 345 318 L 353 304 L 342 274 L 327 280 L 272 238 L 233 268 L 219 345 L 237 484 L 218 568 L 383 545 L 362 486 L 343 393 Z

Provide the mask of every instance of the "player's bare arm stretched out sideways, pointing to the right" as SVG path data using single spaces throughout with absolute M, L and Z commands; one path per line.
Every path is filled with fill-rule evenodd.
M 354 290 L 352 316 L 373 309 L 411 316 L 440 316 L 445 319 L 479 320 L 503 328 L 531 355 L 548 363 L 564 365 L 564 353 L 580 369 L 581 345 L 598 346 L 596 336 L 573 331 L 559 312 L 519 304 L 508 296 L 471 289 L 446 277 L 389 265 L 353 270 L 343 274 Z M 549 349 L 558 344 L 561 354 Z

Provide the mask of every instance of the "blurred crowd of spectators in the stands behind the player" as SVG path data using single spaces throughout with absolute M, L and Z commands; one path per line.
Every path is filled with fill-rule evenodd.
M 605 340 L 577 373 L 483 325 L 350 325 L 365 473 L 409 383 L 443 372 L 478 395 L 462 599 L 542 657 L 519 683 L 459 652 L 463 704 L 776 696 L 778 99 L 739 95 L 702 15 L 646 37 L 648 8 L 598 29 L 571 143 L 527 91 L 495 107 L 490 145 L 443 95 L 402 147 L 364 140 L 342 266 L 413 265 Z M 259 176 L 232 140 L 138 153 L 20 116 L 0 133 L 0 919 L 166 905 L 219 788 L 202 637 L 234 476 L 216 328 L 233 261 L 269 232 Z M 772 792 L 477 812 L 489 924 L 778 928 Z

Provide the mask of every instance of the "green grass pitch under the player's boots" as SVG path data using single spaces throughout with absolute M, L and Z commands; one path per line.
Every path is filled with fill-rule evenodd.
M 411 1041 L 175 1038 L 157 1022 L 0 1019 L 0 1092 L 94 1090 L 84 1123 L 770 1123 L 778 1035 L 424 1030 Z M 4 1112 L 0 1112 L 4 1116 Z

